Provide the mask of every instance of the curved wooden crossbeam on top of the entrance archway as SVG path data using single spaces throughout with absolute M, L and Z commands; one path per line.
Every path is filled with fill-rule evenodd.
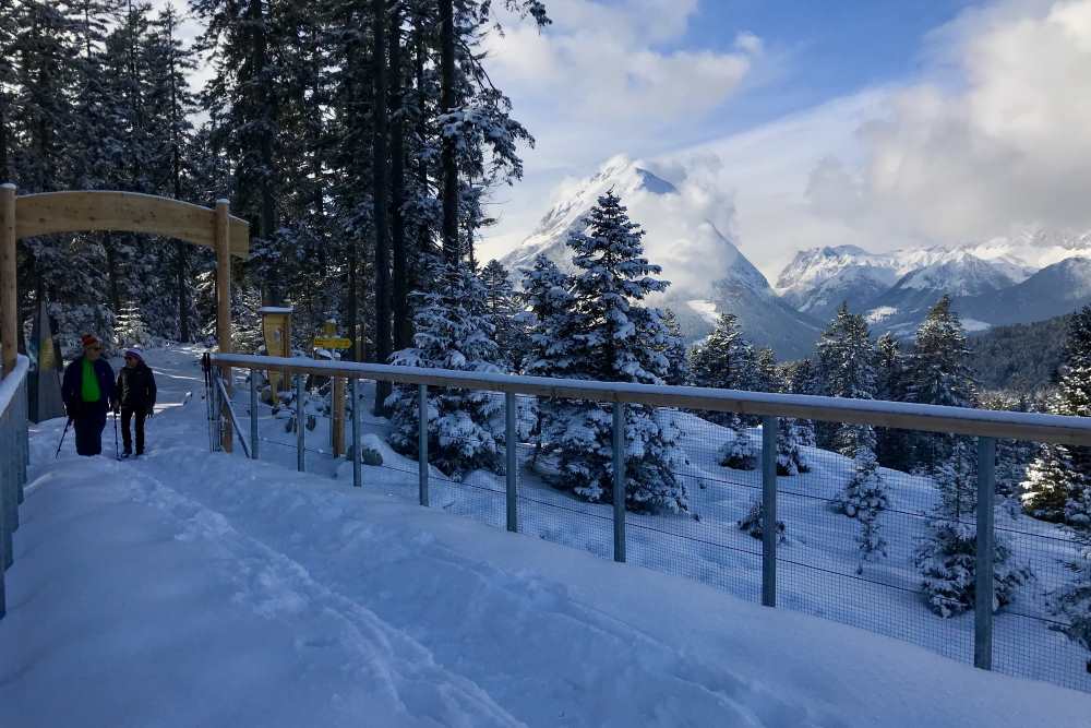
M 215 214 L 189 202 L 137 192 L 44 192 L 19 198 L 15 237 L 117 230 L 161 235 L 215 249 Z M 230 218 L 230 239 L 232 255 L 250 254 L 247 220 Z

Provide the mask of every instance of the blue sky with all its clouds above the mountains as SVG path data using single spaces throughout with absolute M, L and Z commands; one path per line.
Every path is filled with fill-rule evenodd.
M 549 0 L 488 65 L 538 140 L 502 254 L 624 154 L 775 278 L 803 248 L 1091 229 L 1091 0 Z

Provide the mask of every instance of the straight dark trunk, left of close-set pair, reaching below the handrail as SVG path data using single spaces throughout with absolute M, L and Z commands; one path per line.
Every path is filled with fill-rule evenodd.
M 389 114 L 386 107 L 386 0 L 372 0 L 374 20 L 374 36 L 372 60 L 374 62 L 374 129 L 372 131 L 372 152 L 374 154 L 373 170 L 375 225 L 375 343 L 374 356 L 380 363 L 386 363 L 391 357 L 391 248 L 387 238 L 386 205 L 387 172 L 387 135 L 389 134 Z M 379 382 L 375 393 L 375 414 L 385 411 L 383 402 L 389 394 L 389 382 Z

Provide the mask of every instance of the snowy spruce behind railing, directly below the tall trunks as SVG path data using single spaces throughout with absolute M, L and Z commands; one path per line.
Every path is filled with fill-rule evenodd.
M 415 346 L 395 351 L 392 362 L 399 367 L 501 371 L 480 279 L 465 265 L 436 264 L 435 271 L 435 290 L 412 297 Z M 417 387 L 395 387 L 386 406 L 393 425 L 391 444 L 405 455 L 418 456 Z M 429 462 L 448 476 L 479 468 L 499 472 L 501 451 L 490 420 L 502 408 L 502 401 L 485 392 L 429 387 Z

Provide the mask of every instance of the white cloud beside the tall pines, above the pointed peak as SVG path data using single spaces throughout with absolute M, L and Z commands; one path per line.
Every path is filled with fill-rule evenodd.
M 616 152 L 663 148 L 735 92 L 760 53 L 740 35 L 736 50 L 664 50 L 697 0 L 556 0 L 555 25 L 512 25 L 489 38 L 489 71 L 538 140 L 537 169 L 583 171 Z

